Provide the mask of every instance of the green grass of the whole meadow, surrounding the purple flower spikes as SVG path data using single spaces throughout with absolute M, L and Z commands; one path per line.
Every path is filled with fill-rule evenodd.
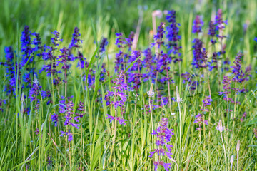
M 61 33 L 64 41 L 54 54 L 59 56 L 60 48 L 69 46 L 74 27 L 78 26 L 81 39 L 84 43 L 81 47 L 72 51 L 81 51 L 89 63 L 84 69 L 76 67 L 73 62 L 69 70 L 68 78 L 64 72 L 60 73 L 62 82 L 59 86 L 51 83 L 51 77 L 46 73 L 38 74 L 37 79 L 41 90 L 49 90 L 51 94 L 50 104 L 39 94 L 39 107 L 29 98 L 21 100 L 22 93 L 29 97 L 31 86 L 21 79 L 16 81 L 14 92 L 6 94 L 5 86 L 9 85 L 9 76 L 6 75 L 5 66 L 0 66 L 1 94 L 0 94 L 0 168 L 1 170 L 153 170 L 153 160 L 163 160 L 171 163 L 171 170 L 256 170 L 257 169 L 257 138 L 254 128 L 257 129 L 256 120 L 256 51 L 257 43 L 254 41 L 256 33 L 256 1 L 9 1 L 0 0 L 0 62 L 5 62 L 4 47 L 13 46 L 15 61 L 21 61 L 20 37 L 24 26 L 27 25 L 31 32 L 40 33 L 41 41 L 50 45 L 52 31 Z M 115 33 L 123 32 L 126 37 L 131 31 L 136 32 L 139 12 L 143 12 L 143 22 L 138 39 L 137 50 L 143 51 L 151 47 L 153 43 L 152 12 L 156 9 L 177 11 L 177 21 L 181 24 L 179 34 L 181 58 L 179 64 L 171 63 L 169 73 L 174 83 L 154 82 L 153 102 L 148 104 L 148 94 L 151 80 L 141 81 L 138 90 L 126 90 L 127 100 L 124 103 L 124 119 L 126 125 L 119 125 L 106 119 L 107 114 L 121 116 L 122 109 L 117 110 L 113 106 L 106 105 L 104 95 L 108 90 L 113 90 L 111 76 L 116 78 L 114 60 L 119 49 L 115 46 Z M 211 46 L 208 36 L 208 22 L 214 19 L 216 11 L 223 9 L 223 19 L 228 20 L 224 31 L 227 37 L 223 41 L 226 44 L 226 53 L 220 58 L 220 71 L 198 70 L 191 66 L 193 60 L 193 39 L 197 36 L 192 33 L 193 20 L 196 15 L 201 15 L 204 26 L 201 40 L 205 43 L 208 54 L 220 51 L 220 44 L 215 48 Z M 157 26 L 165 21 L 164 15 L 157 19 Z M 99 53 L 99 43 L 103 37 L 108 38 L 109 44 L 105 53 Z M 161 49 L 166 52 L 165 47 Z M 127 51 L 124 48 L 123 51 Z M 154 47 L 151 48 L 152 53 Z M 230 98 L 239 101 L 240 104 L 226 103 L 219 92 L 223 91 L 223 76 L 233 78 L 232 70 L 222 70 L 225 58 L 229 58 L 231 66 L 239 51 L 243 52 L 242 69 L 251 64 L 252 77 L 245 83 L 231 81 L 231 88 L 246 88 L 246 93 L 235 93 L 231 89 Z M 39 53 L 39 52 L 36 52 Z M 129 55 L 131 51 L 128 50 Z M 99 56 L 102 56 L 101 58 Z M 129 58 L 127 59 L 129 60 Z M 141 61 L 144 56 L 141 55 Z M 208 61 L 211 57 L 208 58 Z M 36 73 L 46 64 L 42 58 L 34 58 L 36 65 L 28 63 L 21 69 L 21 75 L 27 73 L 26 67 L 35 67 Z M 98 81 L 101 77 L 101 65 L 106 63 L 104 81 Z M 138 63 L 135 62 L 135 63 Z M 130 68 L 131 63 L 126 63 L 125 68 Z M 153 63 L 155 66 L 155 63 Z M 180 66 L 180 68 L 178 67 Z M 61 69 L 61 66 L 58 67 Z M 123 69 L 123 68 L 120 68 Z M 13 71 L 16 69 L 13 68 Z M 96 71 L 96 72 L 94 72 Z M 136 71 L 127 71 L 129 73 Z M 146 68 L 141 69 L 147 73 Z M 191 90 L 191 83 L 183 83 L 181 73 L 191 73 L 193 81 L 199 84 L 196 90 Z M 32 74 L 33 75 L 33 74 Z M 88 75 L 95 78 L 95 83 L 90 84 L 89 79 L 83 80 L 82 76 Z M 165 73 L 159 74 L 161 78 Z M 195 76 L 195 77 L 193 77 Z M 19 79 L 16 77 L 16 79 Z M 129 79 L 129 76 L 126 78 Z M 31 76 L 34 80 L 34 76 Z M 18 83 L 19 82 L 19 83 Z M 32 85 L 32 83 L 31 83 Z M 132 83 L 133 85 L 133 83 Z M 24 86 L 23 88 L 21 88 Z M 178 92 L 176 88 L 178 86 Z M 66 88 L 68 87 L 68 88 Z M 86 87 L 86 88 L 84 88 Z M 178 94 L 183 99 L 181 103 L 171 101 L 152 110 L 153 105 L 161 105 L 156 102 L 158 93 L 163 98 L 178 100 Z M 16 94 L 16 95 L 14 95 Z M 66 95 L 67 94 L 67 95 Z M 67 128 L 64 125 L 64 113 L 61 113 L 59 100 L 61 96 L 71 98 L 74 110 L 79 102 L 84 103 L 84 117 L 79 118 L 80 128 Z M 208 125 L 202 125 L 203 130 L 196 130 L 198 125 L 194 123 L 195 115 L 201 113 L 203 100 L 211 95 L 211 107 L 205 113 Z M 6 101 L 6 104 L 2 100 Z M 27 115 L 25 109 L 30 107 Z M 66 108 L 66 107 L 65 107 Z M 231 110 L 226 113 L 225 110 Z M 24 113 L 23 113 L 24 112 Z M 246 112 L 246 117 L 243 114 Z M 59 115 L 57 126 L 51 120 L 54 113 Z M 173 115 L 174 113 L 174 115 Z M 173 148 L 172 160 L 168 157 L 150 158 L 150 152 L 156 149 L 154 145 L 156 135 L 152 130 L 158 128 L 161 118 L 168 118 L 168 128 L 173 129 L 171 138 Z M 243 120 L 241 121 L 241 118 Z M 218 120 L 221 120 L 225 130 L 216 129 Z M 74 133 L 74 140 L 69 142 L 66 136 L 60 136 L 60 131 L 70 129 Z M 257 133 L 256 133 L 257 134 Z M 240 140 L 240 149 L 236 145 Z M 231 156 L 234 161 L 230 162 Z M 175 161 L 175 162 L 174 162 Z M 158 167 L 158 170 L 164 170 Z

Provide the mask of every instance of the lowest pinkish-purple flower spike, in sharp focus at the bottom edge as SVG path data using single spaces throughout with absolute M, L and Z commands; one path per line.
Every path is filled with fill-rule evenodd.
M 169 170 L 171 168 L 171 163 L 164 163 L 160 160 L 160 157 L 167 156 L 168 158 L 172 159 L 171 149 L 173 145 L 169 145 L 171 142 L 171 137 L 174 135 L 173 129 L 168 129 L 168 119 L 162 118 L 160 125 L 156 130 L 153 130 L 153 135 L 156 135 L 156 146 L 158 147 L 153 152 L 150 152 L 149 157 L 153 157 L 154 154 L 157 153 L 159 156 L 159 160 L 154 161 L 153 165 L 155 166 L 155 170 L 158 170 L 158 166 L 162 165 L 165 170 Z M 168 151 L 166 151 L 166 149 Z

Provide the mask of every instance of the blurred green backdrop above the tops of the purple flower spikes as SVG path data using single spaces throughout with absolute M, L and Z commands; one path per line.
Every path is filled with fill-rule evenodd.
M 231 56 L 241 50 L 251 57 L 255 53 L 253 38 L 256 36 L 256 0 L 0 0 L 0 60 L 4 60 L 4 46 L 18 48 L 19 37 L 25 25 L 32 32 L 39 32 L 43 43 L 49 43 L 51 31 L 57 30 L 64 43 L 71 40 L 74 27 L 78 26 L 84 40 L 83 51 L 94 50 L 92 24 L 96 27 L 98 40 L 102 36 L 109 38 L 109 53 L 115 51 L 116 32 L 126 36 L 136 31 L 139 11 L 143 11 L 143 23 L 138 48 L 143 49 L 151 43 L 149 32 L 152 29 L 151 13 L 156 10 L 177 11 L 177 21 L 181 23 L 183 55 L 191 50 L 191 25 L 196 14 L 203 16 L 204 31 L 208 33 L 208 22 L 213 19 L 218 8 L 223 9 L 226 26 L 227 51 Z M 162 19 L 157 20 L 157 24 Z M 233 50 L 233 51 L 231 51 Z M 249 58 L 250 57 L 250 58 Z

